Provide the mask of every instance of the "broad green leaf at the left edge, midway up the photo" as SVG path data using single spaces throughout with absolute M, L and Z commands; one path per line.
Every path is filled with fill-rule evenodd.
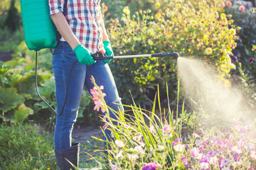
M 0 86 L 0 111 L 7 112 L 16 108 L 18 104 L 23 103 L 24 97 L 16 93 L 15 88 L 6 88 Z

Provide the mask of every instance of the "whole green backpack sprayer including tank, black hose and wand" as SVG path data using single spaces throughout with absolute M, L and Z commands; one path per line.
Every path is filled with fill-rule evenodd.
M 66 99 L 68 96 L 68 81 L 70 73 L 78 60 L 73 63 L 70 68 L 68 75 L 67 87 L 65 92 L 65 101 L 63 104 L 62 111 L 57 113 L 46 101 L 43 100 L 38 91 L 37 84 L 37 52 L 44 48 L 55 48 L 58 40 L 58 32 L 50 19 L 50 11 L 48 6 L 48 0 L 20 0 L 21 1 L 21 16 L 23 22 L 23 30 L 25 42 L 28 50 L 36 51 L 36 92 L 41 100 L 57 115 L 63 113 L 65 108 Z M 67 1 L 65 0 L 64 12 L 65 15 Z M 150 55 L 122 55 L 122 56 L 104 56 L 101 52 L 95 52 L 92 54 L 94 60 L 109 60 L 109 59 L 125 59 L 125 58 L 136 58 L 136 57 L 174 57 L 178 58 L 178 53 L 156 53 Z

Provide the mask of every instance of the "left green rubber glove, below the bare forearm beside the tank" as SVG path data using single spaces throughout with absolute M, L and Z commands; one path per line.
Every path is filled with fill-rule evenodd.
M 78 61 L 82 64 L 90 65 L 94 64 L 96 61 L 92 58 L 92 52 L 82 45 L 78 45 L 74 48 L 73 52 L 78 58 Z

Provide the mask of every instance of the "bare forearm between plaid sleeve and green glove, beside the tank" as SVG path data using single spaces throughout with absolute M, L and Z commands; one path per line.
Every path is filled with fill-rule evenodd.
M 63 36 L 65 41 L 68 42 L 70 47 L 74 50 L 76 46 L 80 44 L 78 38 L 75 37 L 75 34 L 72 32 L 70 27 L 68 26 L 68 22 L 65 19 L 65 16 L 63 16 L 63 13 L 55 13 L 50 16 L 53 23 L 55 24 L 55 27 L 60 32 L 60 35 Z

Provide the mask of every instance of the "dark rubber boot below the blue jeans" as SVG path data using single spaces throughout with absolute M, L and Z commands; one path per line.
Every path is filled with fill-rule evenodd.
M 68 149 L 55 150 L 55 157 L 56 157 L 57 166 L 61 170 L 74 169 L 69 162 L 71 162 L 76 167 L 78 167 L 79 143 L 72 142 L 72 146 Z M 69 162 L 66 159 L 68 159 Z

